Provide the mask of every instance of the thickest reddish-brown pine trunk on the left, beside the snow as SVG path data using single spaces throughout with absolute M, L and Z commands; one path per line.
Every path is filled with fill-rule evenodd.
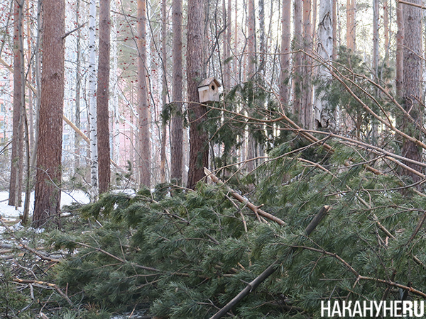
M 43 0 L 43 73 L 33 225 L 59 223 L 64 105 L 65 0 Z

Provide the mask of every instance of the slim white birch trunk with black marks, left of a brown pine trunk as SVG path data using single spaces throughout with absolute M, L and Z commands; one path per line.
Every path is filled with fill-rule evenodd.
M 97 116 L 96 116 L 96 1 L 89 4 L 89 138 L 90 138 L 90 196 L 97 198 L 98 153 L 97 153 Z

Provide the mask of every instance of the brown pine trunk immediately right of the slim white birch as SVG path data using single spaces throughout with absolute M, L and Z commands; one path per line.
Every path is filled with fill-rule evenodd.
M 111 0 L 102 0 L 99 2 L 99 60 L 96 94 L 99 194 L 107 192 L 111 182 L 111 157 L 109 146 L 110 1 Z

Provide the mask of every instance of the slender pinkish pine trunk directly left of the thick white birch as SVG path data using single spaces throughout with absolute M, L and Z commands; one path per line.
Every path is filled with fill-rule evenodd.
M 310 0 L 303 1 L 303 47 L 305 52 L 312 52 L 312 4 Z M 302 69 L 302 112 L 300 123 L 304 128 L 312 128 L 312 58 L 309 55 L 303 56 Z

